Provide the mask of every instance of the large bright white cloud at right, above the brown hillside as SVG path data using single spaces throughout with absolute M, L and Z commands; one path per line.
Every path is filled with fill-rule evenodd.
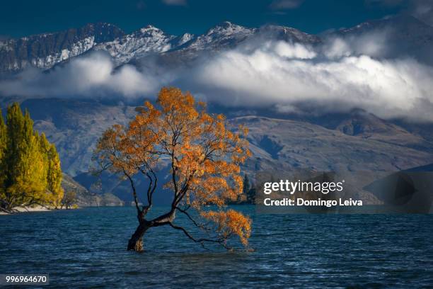
M 433 120 L 432 67 L 411 59 L 357 55 L 343 40 L 335 41 L 340 46 L 335 50 L 344 53 L 334 52 L 332 57 L 299 57 L 304 54 L 296 55 L 300 49 L 294 48 L 297 58 L 287 58 L 287 52 L 279 51 L 281 42 L 250 53 L 224 52 L 198 69 L 195 77 L 207 87 L 207 94 L 233 106 L 273 104 L 279 111 L 292 112 L 308 103 L 324 112 L 364 108 L 382 118 Z

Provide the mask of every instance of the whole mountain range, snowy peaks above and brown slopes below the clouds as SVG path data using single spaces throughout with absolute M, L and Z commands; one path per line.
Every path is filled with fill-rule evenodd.
M 409 55 L 432 64 L 433 28 L 410 16 L 368 21 L 320 35 L 283 26 L 246 28 L 230 22 L 221 23 L 202 35 L 169 35 L 154 26 L 127 34 L 112 24 L 95 23 L 58 33 L 1 40 L 0 77 L 14 77 L 31 67 L 50 72 L 57 65 L 93 51 L 108 53 L 116 67 L 133 64 L 142 69 L 151 59 L 170 68 L 187 65 L 203 55 L 217 54 L 247 41 L 282 40 L 320 48 L 334 38 L 351 42 L 355 36 L 362 39 L 362 35 L 378 33 L 380 38 L 383 31 L 387 32 L 386 41 L 398 45 L 391 45 L 392 50 L 375 52 L 376 57 Z M 364 51 L 359 50 L 359 53 Z M 113 193 L 122 200 L 130 200 L 129 188 L 121 180 L 104 176 L 109 184 L 101 190 L 94 186 L 95 179 L 88 171 L 98 137 L 114 123 L 127 124 L 134 116 L 134 103 L 60 95 L 58 98 L 0 96 L 2 108 L 12 101 L 20 101 L 35 120 L 35 128 L 45 132 L 57 145 L 69 183 L 77 181 L 90 194 Z M 243 171 L 251 175 L 277 167 L 396 171 L 433 163 L 433 126 L 429 123 L 383 120 L 360 109 L 350 113 L 299 116 L 251 112 L 243 108 L 234 113 L 233 109 L 210 108 L 229 115 L 233 129 L 239 124 L 250 128 L 248 140 L 253 157 L 243 166 Z M 96 199 L 91 202 L 101 203 Z

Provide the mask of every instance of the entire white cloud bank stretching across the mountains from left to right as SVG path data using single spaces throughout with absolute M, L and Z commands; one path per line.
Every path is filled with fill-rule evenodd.
M 0 94 L 134 99 L 178 85 L 226 106 L 273 107 L 287 113 L 363 108 L 381 118 L 433 121 L 433 68 L 411 58 L 384 59 L 383 35 L 333 38 L 320 47 L 282 41 L 248 42 L 188 69 L 132 65 L 116 69 L 95 53 L 49 73 L 23 72 L 0 82 Z M 156 73 L 158 72 L 158 73 Z

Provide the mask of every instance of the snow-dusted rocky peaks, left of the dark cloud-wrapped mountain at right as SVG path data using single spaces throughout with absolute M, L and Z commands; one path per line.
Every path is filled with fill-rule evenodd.
M 107 51 L 116 65 L 139 60 L 149 55 L 197 57 L 201 52 L 218 52 L 236 47 L 255 38 L 288 42 L 316 43 L 320 38 L 283 26 L 246 28 L 220 23 L 203 35 L 185 33 L 169 35 L 154 26 L 146 26 L 130 34 L 108 23 L 88 24 L 83 28 L 59 33 L 33 35 L 28 38 L 0 42 L 0 74 L 20 72 L 27 67 L 50 69 L 55 64 L 88 51 Z

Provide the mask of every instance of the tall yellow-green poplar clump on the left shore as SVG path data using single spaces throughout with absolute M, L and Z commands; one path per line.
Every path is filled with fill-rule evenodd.
M 1 113 L 0 113 L 1 115 Z M 30 114 L 18 103 L 0 118 L 0 207 L 54 205 L 63 197 L 59 155 L 45 135 L 33 130 Z

